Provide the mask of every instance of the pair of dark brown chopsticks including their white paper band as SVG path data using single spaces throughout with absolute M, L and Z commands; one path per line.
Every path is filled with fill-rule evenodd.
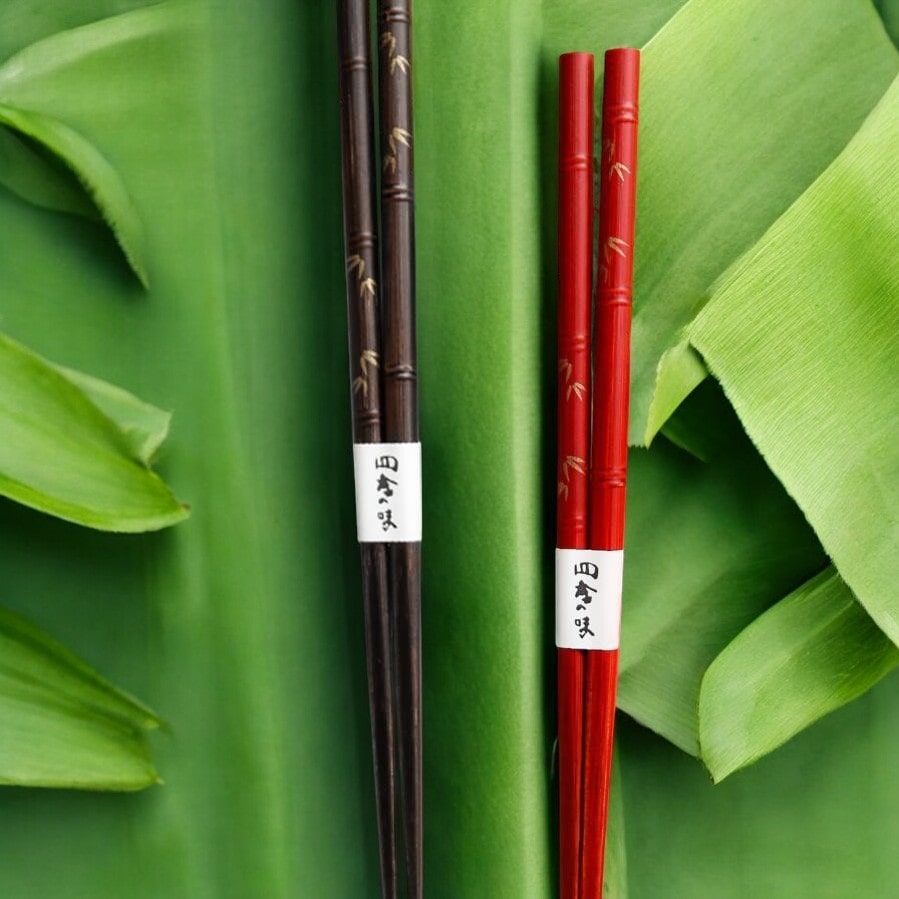
M 399 895 L 401 838 L 402 892 L 421 899 L 421 450 L 411 2 L 382 0 L 378 7 L 380 257 L 368 0 L 338 0 L 337 19 L 356 511 L 381 893 L 385 899 Z

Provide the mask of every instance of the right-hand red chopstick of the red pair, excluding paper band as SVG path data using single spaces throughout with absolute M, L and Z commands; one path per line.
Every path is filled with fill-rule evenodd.
M 605 55 L 599 167 L 590 548 L 624 548 L 640 53 Z M 602 896 L 618 652 L 587 654 L 580 899 Z

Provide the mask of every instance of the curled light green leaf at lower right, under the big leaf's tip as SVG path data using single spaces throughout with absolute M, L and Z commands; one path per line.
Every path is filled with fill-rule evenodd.
M 715 781 L 750 765 L 899 665 L 833 567 L 746 628 L 712 663 L 699 703 Z

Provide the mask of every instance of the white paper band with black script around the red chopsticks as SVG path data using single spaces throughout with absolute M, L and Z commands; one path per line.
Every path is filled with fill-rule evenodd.
M 556 646 L 618 649 L 624 550 L 556 550 Z

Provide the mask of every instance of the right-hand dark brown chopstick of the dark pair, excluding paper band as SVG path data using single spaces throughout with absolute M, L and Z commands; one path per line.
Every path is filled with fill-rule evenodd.
M 415 330 L 411 0 L 380 0 L 379 88 L 385 436 L 420 454 Z M 420 459 L 420 455 L 419 455 Z M 420 462 L 419 462 L 420 464 Z M 419 499 L 420 505 L 420 499 Z M 406 895 L 423 891 L 421 536 L 391 555 Z

